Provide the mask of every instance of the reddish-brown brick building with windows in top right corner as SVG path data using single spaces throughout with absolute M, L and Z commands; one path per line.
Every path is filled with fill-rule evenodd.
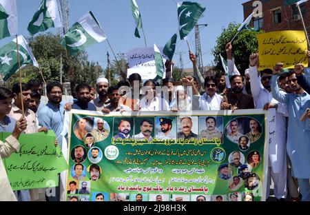
M 296 4 L 285 6 L 284 0 L 251 0 L 242 3 L 242 6 L 245 19 L 255 8 L 262 6 L 262 17 L 256 17 L 252 20 L 254 28 L 265 30 L 265 32 L 304 30 Z M 310 1 L 300 4 L 300 10 L 309 35 Z

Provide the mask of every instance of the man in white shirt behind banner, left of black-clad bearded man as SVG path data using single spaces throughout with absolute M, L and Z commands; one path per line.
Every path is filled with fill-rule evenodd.
M 222 96 L 216 94 L 218 82 L 215 77 L 207 76 L 205 78 L 205 93 L 200 96 L 200 110 L 220 110 Z

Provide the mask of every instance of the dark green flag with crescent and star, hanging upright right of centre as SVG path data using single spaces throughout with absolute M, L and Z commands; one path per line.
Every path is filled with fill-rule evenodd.
M 178 3 L 178 30 L 180 32 L 180 39 L 189 34 L 194 28 L 198 19 L 205 11 L 205 7 L 196 2 L 183 1 Z

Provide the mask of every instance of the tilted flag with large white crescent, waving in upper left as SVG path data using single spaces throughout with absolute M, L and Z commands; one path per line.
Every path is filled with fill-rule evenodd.
M 68 50 L 70 55 L 76 55 L 85 50 L 86 47 L 100 43 L 105 39 L 107 39 L 107 36 L 94 14 L 90 11 L 72 25 L 61 38 L 61 45 Z

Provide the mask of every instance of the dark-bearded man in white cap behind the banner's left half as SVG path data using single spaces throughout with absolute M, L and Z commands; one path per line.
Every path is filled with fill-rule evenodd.
M 99 96 L 91 101 L 96 106 L 97 111 L 103 110 L 104 107 L 109 105 L 110 100 L 107 97 L 107 88 L 109 88 L 109 81 L 105 78 L 99 78 L 96 81 L 96 90 Z

